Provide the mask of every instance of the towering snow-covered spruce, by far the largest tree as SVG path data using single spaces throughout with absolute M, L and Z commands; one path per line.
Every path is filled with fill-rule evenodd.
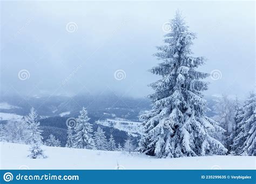
M 154 54 L 163 62 L 151 72 L 161 79 L 150 84 L 155 91 L 149 95 L 152 110 L 140 116 L 144 133 L 139 151 L 159 158 L 225 154 L 226 148 L 212 136 L 224 130 L 205 116 L 206 100 L 201 91 L 208 83 L 202 79 L 209 74 L 196 70 L 205 61 L 192 56 L 190 47 L 196 34 L 188 31 L 179 12 L 170 20 L 170 27 L 165 45 L 157 47 L 159 52 Z

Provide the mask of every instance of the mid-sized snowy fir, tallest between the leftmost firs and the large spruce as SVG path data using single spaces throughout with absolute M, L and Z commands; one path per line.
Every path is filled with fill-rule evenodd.
M 75 127 L 75 148 L 93 149 L 95 147 L 92 138 L 92 125 L 89 123 L 87 110 L 83 107 L 80 111 L 80 116 L 77 118 L 77 125 Z

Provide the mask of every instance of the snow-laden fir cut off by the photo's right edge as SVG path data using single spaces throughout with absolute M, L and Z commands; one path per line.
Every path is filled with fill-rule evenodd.
M 250 97 L 239 111 L 237 118 L 238 135 L 234 138 L 232 148 L 237 155 L 255 156 L 255 123 L 256 123 L 256 97 L 251 93 Z

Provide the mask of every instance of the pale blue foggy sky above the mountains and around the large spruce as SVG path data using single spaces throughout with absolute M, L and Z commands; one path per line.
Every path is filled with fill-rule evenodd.
M 162 26 L 179 9 L 197 33 L 199 70 L 221 72 L 206 95 L 244 97 L 255 83 L 254 2 L 1 2 L 1 92 L 29 96 L 114 93 L 142 97 Z M 67 31 L 75 23 L 75 32 Z M 71 27 L 72 28 L 72 27 Z M 21 70 L 29 78 L 21 80 Z M 122 69 L 125 79 L 116 80 Z

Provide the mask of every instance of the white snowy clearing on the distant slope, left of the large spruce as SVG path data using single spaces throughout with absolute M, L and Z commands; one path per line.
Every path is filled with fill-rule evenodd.
M 97 121 L 97 124 L 112 127 L 114 129 L 122 130 L 127 133 L 131 133 L 133 137 L 142 134 L 142 123 L 141 122 L 130 122 L 124 119 L 106 119 L 105 121 Z

